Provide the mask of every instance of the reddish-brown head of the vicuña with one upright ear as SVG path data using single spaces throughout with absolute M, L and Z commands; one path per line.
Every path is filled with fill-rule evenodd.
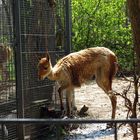
M 46 57 L 41 58 L 38 63 L 38 77 L 40 80 L 44 80 L 51 73 L 50 56 L 47 53 Z

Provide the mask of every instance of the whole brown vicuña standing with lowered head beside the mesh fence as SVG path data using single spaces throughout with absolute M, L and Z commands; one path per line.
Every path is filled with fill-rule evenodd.
M 47 54 L 47 57 L 39 62 L 38 75 L 40 79 L 48 77 L 59 82 L 61 109 L 63 109 L 62 92 L 67 91 L 68 115 L 71 113 L 71 91 L 95 75 L 97 84 L 111 99 L 112 118 L 115 118 L 116 97 L 112 93 L 112 79 L 117 72 L 117 63 L 115 54 L 104 47 L 88 48 L 71 53 L 60 59 L 54 67 Z M 45 69 L 43 69 L 44 66 Z

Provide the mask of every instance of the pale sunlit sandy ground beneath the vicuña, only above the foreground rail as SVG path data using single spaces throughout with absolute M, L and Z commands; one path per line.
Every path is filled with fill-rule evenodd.
M 114 79 L 113 90 L 121 93 L 128 85 L 128 81 Z M 88 106 L 88 113 L 91 118 L 111 118 L 110 99 L 107 94 L 100 87 L 98 87 L 95 81 L 88 82 L 81 88 L 75 90 L 75 104 L 78 110 L 80 110 L 83 105 Z M 125 113 L 127 113 L 127 110 L 124 107 L 124 100 L 118 96 L 116 118 L 125 119 Z

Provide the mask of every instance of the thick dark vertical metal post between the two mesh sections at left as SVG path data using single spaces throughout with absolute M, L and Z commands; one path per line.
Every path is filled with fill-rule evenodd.
M 21 21 L 20 21 L 20 3 L 22 1 L 14 1 L 14 35 L 15 35 L 15 63 L 16 63 L 16 97 L 17 97 L 17 116 L 24 118 L 24 96 L 23 96 L 23 81 L 22 81 L 22 48 L 21 48 Z M 24 139 L 24 125 L 18 125 L 18 137 Z

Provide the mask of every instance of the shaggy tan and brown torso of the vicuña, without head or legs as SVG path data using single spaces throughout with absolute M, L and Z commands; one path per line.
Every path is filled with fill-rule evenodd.
M 104 47 L 95 47 L 65 56 L 58 61 L 54 68 L 62 68 L 63 71 L 66 71 L 67 77 L 71 79 L 71 84 L 79 87 L 101 70 L 106 71 L 111 80 L 116 73 L 116 63 L 117 58 L 112 51 Z

